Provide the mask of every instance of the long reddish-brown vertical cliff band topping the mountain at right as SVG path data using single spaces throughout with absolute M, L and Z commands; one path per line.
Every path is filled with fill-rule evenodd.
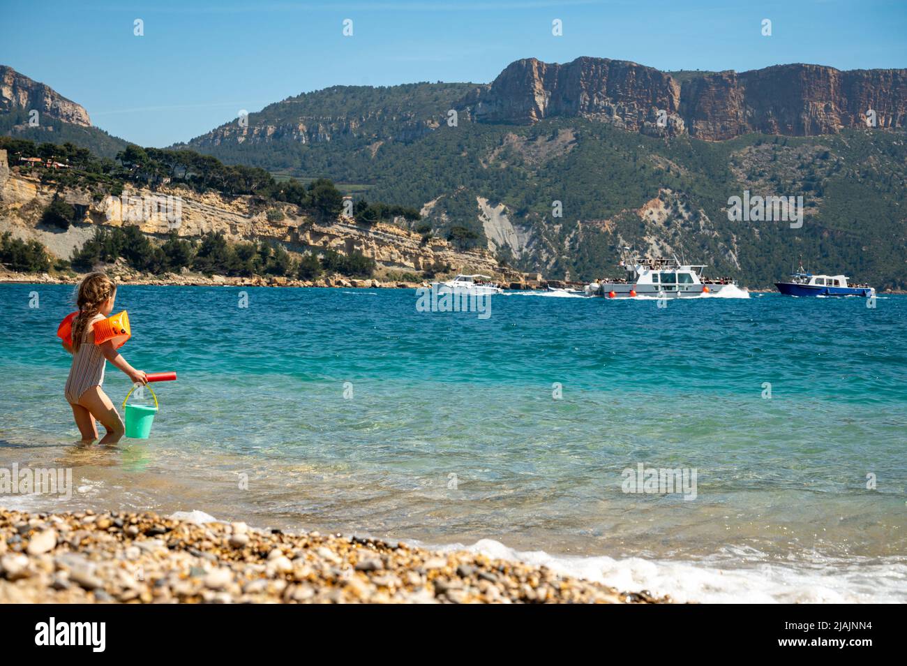
M 688 132 L 720 141 L 747 132 L 812 136 L 907 123 L 907 69 L 853 70 L 785 64 L 750 72 L 703 73 L 682 85 L 651 67 L 578 58 L 510 64 L 461 105 L 477 122 L 532 123 L 555 116 L 610 122 L 632 132 Z M 660 115 L 660 118 L 659 118 Z M 660 122 L 658 122 L 660 120 Z

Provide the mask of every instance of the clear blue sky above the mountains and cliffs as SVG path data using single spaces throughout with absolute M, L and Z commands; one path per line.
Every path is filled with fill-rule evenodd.
M 907 67 L 907 3 L 875 0 L 0 3 L 0 64 L 141 145 L 330 85 L 487 83 L 524 57 L 662 70 Z M 133 34 L 135 19 L 144 36 Z M 353 36 L 342 34 L 353 20 Z M 763 19 L 772 35 L 761 34 Z M 561 19 L 562 36 L 551 34 Z

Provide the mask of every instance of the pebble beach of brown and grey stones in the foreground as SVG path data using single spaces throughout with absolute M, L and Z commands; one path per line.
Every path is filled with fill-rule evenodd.
M 544 566 L 152 513 L 0 509 L 0 603 L 657 603 Z

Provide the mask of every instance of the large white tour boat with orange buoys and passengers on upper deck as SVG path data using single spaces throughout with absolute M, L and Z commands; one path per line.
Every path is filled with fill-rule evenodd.
M 629 248 L 621 251 L 620 266 L 626 270 L 623 279 L 603 279 L 586 285 L 586 293 L 606 298 L 649 296 L 681 299 L 705 294 L 718 294 L 722 289 L 739 289 L 733 279 L 705 279 L 706 264 L 687 264 L 677 255 L 640 257 Z

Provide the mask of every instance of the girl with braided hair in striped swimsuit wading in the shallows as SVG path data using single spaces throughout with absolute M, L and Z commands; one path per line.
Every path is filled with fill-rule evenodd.
M 107 429 L 101 444 L 116 444 L 125 430 L 120 413 L 101 387 L 107 361 L 119 367 L 132 383 L 148 383 L 145 373 L 129 365 L 113 347 L 112 340 L 100 345 L 94 343 L 94 324 L 110 316 L 114 300 L 116 285 L 110 278 L 101 272 L 86 275 L 76 300 L 79 314 L 73 319 L 73 344 L 63 340 L 63 348 L 73 355 L 73 366 L 66 379 L 66 400 L 73 407 L 75 425 L 85 444 L 98 438 L 94 419 Z

